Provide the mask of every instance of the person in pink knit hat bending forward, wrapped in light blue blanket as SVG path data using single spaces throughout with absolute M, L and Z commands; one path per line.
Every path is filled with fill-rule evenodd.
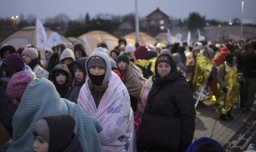
M 8 82 L 6 93 L 18 109 L 12 119 L 12 141 L 2 146 L 0 151 L 33 151 L 36 122 L 44 116 L 63 114 L 75 119 L 73 132 L 83 151 L 102 151 L 98 135 L 102 128 L 96 119 L 86 115 L 76 103 L 60 98 L 53 83 L 46 78 L 34 81 L 27 71 L 19 71 Z

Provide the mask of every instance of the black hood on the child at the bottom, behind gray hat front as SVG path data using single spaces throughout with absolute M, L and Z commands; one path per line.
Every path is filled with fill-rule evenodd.
M 50 131 L 49 152 L 63 151 L 73 138 L 75 119 L 69 115 L 44 117 Z

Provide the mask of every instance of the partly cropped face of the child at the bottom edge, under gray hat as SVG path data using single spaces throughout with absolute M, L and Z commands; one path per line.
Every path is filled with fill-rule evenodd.
M 44 140 L 40 135 L 35 137 L 33 150 L 35 152 L 48 152 L 49 143 Z

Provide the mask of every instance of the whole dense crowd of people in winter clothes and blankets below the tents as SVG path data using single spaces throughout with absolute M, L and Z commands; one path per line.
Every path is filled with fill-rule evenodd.
M 90 55 L 80 43 L 5 44 L 0 55 L 0 151 L 225 151 L 213 139 L 193 142 L 196 107 L 214 105 L 220 121 L 232 121 L 232 109 L 251 111 L 256 93 L 251 39 L 120 38 Z

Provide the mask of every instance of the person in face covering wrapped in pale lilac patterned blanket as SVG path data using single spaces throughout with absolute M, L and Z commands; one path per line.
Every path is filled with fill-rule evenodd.
M 134 151 L 134 113 L 127 88 L 112 71 L 105 49 L 96 48 L 86 61 L 86 82 L 77 103 L 96 119 L 102 151 Z

